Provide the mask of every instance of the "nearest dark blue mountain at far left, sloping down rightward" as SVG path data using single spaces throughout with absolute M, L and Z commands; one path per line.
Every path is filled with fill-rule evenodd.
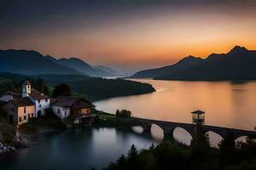
M 42 54 L 28 50 L 0 50 L 0 72 L 37 74 L 82 74 L 63 65 L 57 65 Z

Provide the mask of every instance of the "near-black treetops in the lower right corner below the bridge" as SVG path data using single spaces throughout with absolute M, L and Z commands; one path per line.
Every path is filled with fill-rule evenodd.
M 236 144 L 230 134 L 219 144 L 219 150 L 210 148 L 208 137 L 198 135 L 190 146 L 163 142 L 148 150 L 137 150 L 131 145 L 127 156 L 120 156 L 105 170 L 247 170 L 256 169 L 256 143 Z

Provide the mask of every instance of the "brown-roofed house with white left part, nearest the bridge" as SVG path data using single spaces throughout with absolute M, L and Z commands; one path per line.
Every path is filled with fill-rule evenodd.
M 90 117 L 92 108 L 93 105 L 89 101 L 69 96 L 59 96 L 52 104 L 55 116 L 61 119 L 70 115 L 76 119 Z

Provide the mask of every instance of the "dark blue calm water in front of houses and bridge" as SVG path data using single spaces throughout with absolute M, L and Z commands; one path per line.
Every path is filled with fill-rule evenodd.
M 159 139 L 142 134 L 139 127 L 84 127 L 38 135 L 36 144 L 9 156 L 0 156 L 2 170 L 56 170 L 102 168 L 126 155 L 131 144 L 147 149 Z

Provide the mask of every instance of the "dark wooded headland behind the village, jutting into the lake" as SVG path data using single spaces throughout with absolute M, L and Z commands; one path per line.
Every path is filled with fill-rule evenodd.
M 26 79 L 32 83 L 32 88 L 49 96 L 56 97 L 53 93 L 54 88 L 66 84 L 70 90 L 72 90 L 73 95 L 84 97 L 90 101 L 119 96 L 147 94 L 155 91 L 148 83 L 133 82 L 124 79 L 104 79 L 83 77 L 81 75 L 24 76 L 11 73 L 0 73 L 0 95 L 7 91 L 13 91 L 20 94 L 20 84 Z M 59 88 L 59 90 L 62 89 Z M 62 95 L 64 94 L 65 93 L 62 93 Z

